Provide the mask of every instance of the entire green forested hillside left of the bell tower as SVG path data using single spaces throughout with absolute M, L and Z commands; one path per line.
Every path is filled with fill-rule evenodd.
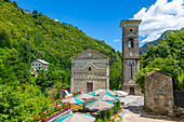
M 44 110 L 43 103 L 57 97 L 49 90 L 69 86 L 69 57 L 89 48 L 110 57 L 110 83 L 115 84 L 110 86 L 119 89 L 120 52 L 77 27 L 37 11 L 26 14 L 16 2 L 0 0 L 0 121 L 23 121 Z M 50 63 L 49 71 L 40 71 L 38 78 L 30 77 L 35 58 Z

